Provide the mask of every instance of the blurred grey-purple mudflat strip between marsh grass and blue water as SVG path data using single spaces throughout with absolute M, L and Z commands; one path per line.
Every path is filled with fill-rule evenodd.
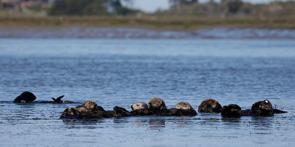
M 249 27 L 195 30 L 72 26 L 0 27 L 0 39 L 295 39 L 295 30 Z

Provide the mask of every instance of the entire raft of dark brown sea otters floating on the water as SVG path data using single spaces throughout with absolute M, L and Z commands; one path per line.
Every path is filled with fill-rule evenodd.
M 62 101 L 60 96 L 52 98 L 53 101 L 41 101 L 40 103 L 76 103 L 73 101 Z M 31 92 L 23 92 L 14 99 L 14 103 L 33 102 L 36 96 Z M 122 116 L 196 116 L 197 112 L 188 102 L 178 102 L 175 108 L 168 109 L 161 98 L 151 98 L 148 104 L 138 102 L 131 106 L 132 111 L 115 106 L 113 111 L 106 111 L 98 106 L 95 101 L 85 101 L 80 106 L 66 108 L 61 114 L 61 119 L 101 119 Z M 241 110 L 237 104 L 221 106 L 215 99 L 205 99 L 201 102 L 199 112 L 221 113 L 221 116 L 273 116 L 274 113 L 287 113 L 274 109 L 268 100 L 255 102 L 251 109 Z

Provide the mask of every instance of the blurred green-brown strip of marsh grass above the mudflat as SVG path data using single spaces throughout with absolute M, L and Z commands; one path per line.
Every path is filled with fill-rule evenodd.
M 279 18 L 206 18 L 156 16 L 54 16 L 0 17 L 0 27 L 129 27 L 187 31 L 200 28 L 238 27 L 295 29 L 295 17 Z

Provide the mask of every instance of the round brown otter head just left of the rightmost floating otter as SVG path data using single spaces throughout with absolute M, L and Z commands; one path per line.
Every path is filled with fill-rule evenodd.
M 199 112 L 215 112 L 219 113 L 222 107 L 218 101 L 213 98 L 205 99 L 201 102 L 198 111 Z

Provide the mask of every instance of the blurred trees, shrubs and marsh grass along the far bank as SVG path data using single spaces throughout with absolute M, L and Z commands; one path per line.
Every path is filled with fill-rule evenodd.
M 17 0 L 16 0 L 17 1 Z M 123 6 L 132 0 L 0 0 L 0 26 L 128 26 L 160 29 L 240 26 L 295 29 L 295 1 L 251 4 L 242 0 L 169 0 L 170 9 L 148 14 Z M 26 3 L 27 4 L 27 3 Z

